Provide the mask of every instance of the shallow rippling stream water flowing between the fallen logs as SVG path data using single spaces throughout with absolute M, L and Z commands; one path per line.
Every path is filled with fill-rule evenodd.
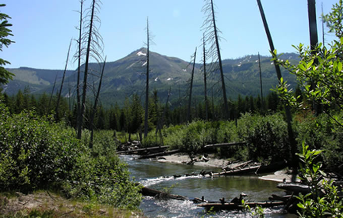
M 224 197 L 227 201 L 239 196 L 242 192 L 249 201 L 266 201 L 272 193 L 282 195 L 275 182 L 259 180 L 257 176 L 206 177 L 191 176 L 174 178 L 173 175 L 199 173 L 201 170 L 214 170 L 199 166 L 172 163 L 161 163 L 150 160 L 135 160 L 133 156 L 121 156 L 128 163 L 131 176 L 142 185 L 157 189 L 169 190 L 170 193 L 186 197 L 219 201 Z M 166 177 L 170 176 L 170 177 Z M 161 200 L 144 197 L 140 209 L 147 217 L 250 217 L 250 213 L 242 211 L 221 211 L 209 214 L 197 207 L 192 201 Z M 282 213 L 282 208 L 265 209 L 266 217 L 293 217 Z

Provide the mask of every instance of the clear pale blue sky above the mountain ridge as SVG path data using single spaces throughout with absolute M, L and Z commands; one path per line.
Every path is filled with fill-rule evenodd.
M 292 44 L 309 44 L 306 0 L 261 0 L 264 12 L 278 52 L 293 52 Z M 324 14 L 338 0 L 316 1 L 317 17 Z M 2 13 L 12 17 L 10 23 L 16 43 L 1 52 L 3 59 L 15 68 L 63 69 L 71 38 L 77 38 L 79 10 L 78 0 L 4 0 Z M 249 54 L 269 55 L 269 45 L 255 0 L 214 0 L 217 26 L 222 32 L 221 56 L 242 57 Z M 85 6 L 91 4 L 87 0 Z M 204 20 L 202 0 L 102 0 L 99 32 L 103 37 L 104 55 L 108 61 L 118 60 L 132 51 L 144 47 L 146 18 L 154 45 L 150 50 L 186 61 L 201 44 L 200 27 Z M 317 20 L 321 41 L 321 22 Z M 326 30 L 327 31 L 327 30 Z M 327 42 L 333 39 L 326 36 Z M 72 46 L 75 53 L 76 45 Z M 197 62 L 200 62 L 200 55 Z M 69 63 L 69 69 L 76 64 Z

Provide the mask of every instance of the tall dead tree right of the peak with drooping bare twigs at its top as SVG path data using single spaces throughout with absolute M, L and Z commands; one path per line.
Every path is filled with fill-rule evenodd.
M 223 102 L 224 102 L 224 116 L 226 119 L 230 117 L 228 114 L 228 106 L 227 106 L 227 98 L 226 98 L 226 88 L 225 88 L 225 82 L 224 82 L 224 73 L 223 73 L 223 67 L 221 64 L 221 56 L 220 56 L 220 48 L 219 48 L 219 40 L 221 33 L 220 30 L 216 26 L 216 20 L 215 20 L 215 11 L 214 11 L 214 5 L 213 0 L 205 0 L 205 5 L 202 8 L 202 12 L 205 14 L 206 18 L 205 21 L 201 27 L 201 29 L 204 31 L 204 41 L 205 43 L 209 44 L 209 49 L 207 51 L 207 54 L 209 57 L 212 57 L 212 63 L 218 62 L 218 68 L 220 72 L 220 80 L 221 80 L 221 89 L 223 93 Z M 211 67 L 211 70 L 217 70 L 217 67 Z

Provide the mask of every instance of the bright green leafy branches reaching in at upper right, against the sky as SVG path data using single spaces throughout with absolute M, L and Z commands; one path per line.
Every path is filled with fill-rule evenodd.
M 331 42 L 328 48 L 322 44 L 313 50 L 309 47 L 305 48 L 303 44 L 294 46 L 301 58 L 296 65 L 291 64 L 288 60 L 279 60 L 276 51 L 274 51 L 273 59 L 297 77 L 298 83 L 304 90 L 303 95 L 306 100 L 321 105 L 324 112 L 339 123 L 343 129 L 342 121 L 333 116 L 336 111 L 343 110 L 342 4 L 343 1 L 340 0 L 338 4 L 333 6 L 332 11 L 325 16 L 331 31 L 337 37 L 337 40 Z M 298 101 L 298 98 L 301 97 L 293 95 L 293 90 L 289 88 L 286 81 L 281 80 L 280 82 L 280 85 L 275 88 L 280 98 L 294 108 L 303 107 L 304 105 Z

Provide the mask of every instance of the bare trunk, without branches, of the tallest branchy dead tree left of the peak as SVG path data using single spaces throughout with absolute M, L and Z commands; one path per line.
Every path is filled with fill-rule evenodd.
M 92 40 L 94 8 L 95 8 L 95 0 L 93 0 L 93 4 L 92 4 L 92 13 L 91 13 L 91 19 L 90 19 L 90 26 L 89 26 L 89 32 L 88 32 L 88 42 L 87 42 L 87 51 L 86 51 L 85 72 L 84 72 L 84 77 L 83 77 L 82 102 L 81 102 L 80 115 L 78 116 L 79 121 L 78 121 L 77 138 L 79 138 L 79 139 L 81 139 L 81 131 L 82 131 L 82 123 L 83 123 L 83 112 L 85 110 L 85 102 L 86 102 L 88 62 L 89 62 L 90 44 L 91 44 L 91 40 Z

